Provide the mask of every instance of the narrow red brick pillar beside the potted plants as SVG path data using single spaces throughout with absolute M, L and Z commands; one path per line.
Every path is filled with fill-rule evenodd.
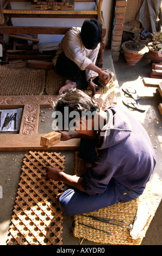
M 127 0 L 116 0 L 113 32 L 111 38 L 111 52 L 113 60 L 118 60 L 123 34 L 123 25 L 127 7 Z

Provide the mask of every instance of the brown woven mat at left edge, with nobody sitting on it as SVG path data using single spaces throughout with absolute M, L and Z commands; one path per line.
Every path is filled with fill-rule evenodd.
M 0 95 L 41 95 L 45 75 L 45 70 L 11 69 L 0 65 Z

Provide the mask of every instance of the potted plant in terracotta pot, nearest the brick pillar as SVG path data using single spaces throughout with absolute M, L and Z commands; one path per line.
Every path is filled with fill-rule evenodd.
M 123 42 L 121 45 L 124 51 L 124 58 L 128 65 L 135 65 L 138 63 L 146 52 L 149 51 L 145 44 L 139 42 L 139 35 L 134 33 L 133 40 Z

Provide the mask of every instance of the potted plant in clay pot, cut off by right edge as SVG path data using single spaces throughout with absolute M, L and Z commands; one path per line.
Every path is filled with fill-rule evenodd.
M 153 35 L 152 41 L 148 44 L 149 57 L 153 63 L 162 62 L 162 32 Z

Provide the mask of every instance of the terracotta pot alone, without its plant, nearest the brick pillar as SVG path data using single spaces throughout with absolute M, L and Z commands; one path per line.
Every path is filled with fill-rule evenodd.
M 127 42 L 132 42 L 132 41 L 123 42 L 121 45 L 124 51 L 124 58 L 126 59 L 126 63 L 128 65 L 134 66 L 136 63 L 138 63 L 141 60 L 144 54 L 149 51 L 149 49 L 146 45 L 144 45 L 144 48 L 141 51 L 129 50 L 126 47 Z

